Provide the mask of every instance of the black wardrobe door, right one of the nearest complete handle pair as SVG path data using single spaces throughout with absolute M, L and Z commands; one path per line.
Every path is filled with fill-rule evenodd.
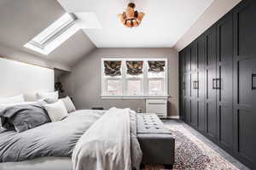
M 233 16 L 217 24 L 217 117 L 218 143 L 233 150 Z

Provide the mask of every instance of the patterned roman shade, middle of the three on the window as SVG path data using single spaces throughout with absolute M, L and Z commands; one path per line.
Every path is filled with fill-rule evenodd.
M 143 74 L 143 61 L 126 61 L 127 74 L 137 76 Z

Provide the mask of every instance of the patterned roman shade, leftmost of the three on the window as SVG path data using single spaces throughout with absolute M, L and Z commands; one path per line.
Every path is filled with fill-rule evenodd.
M 122 61 L 106 60 L 104 61 L 104 73 L 106 76 L 118 77 L 121 75 Z

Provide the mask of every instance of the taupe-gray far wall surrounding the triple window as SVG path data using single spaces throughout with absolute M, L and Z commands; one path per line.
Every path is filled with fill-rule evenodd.
M 112 106 L 145 111 L 145 99 L 101 99 L 102 57 L 167 58 L 168 59 L 168 116 L 178 115 L 178 54 L 174 48 L 96 48 L 73 66 L 71 73 L 62 75 L 65 93 L 78 109 Z

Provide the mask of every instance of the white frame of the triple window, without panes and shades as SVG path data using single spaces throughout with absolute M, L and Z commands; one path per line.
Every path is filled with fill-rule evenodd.
M 121 64 L 121 77 L 104 77 L 104 60 L 120 60 Z M 148 60 L 150 61 L 160 61 L 164 60 L 166 62 L 165 66 L 165 77 L 148 77 Z M 126 77 L 126 61 L 143 61 L 143 77 Z M 102 57 L 102 99 L 167 99 L 168 98 L 168 59 L 166 58 L 120 58 L 120 57 Z M 120 80 L 122 83 L 122 95 L 108 95 L 107 91 L 107 81 L 106 80 Z M 149 80 L 163 79 L 164 87 L 163 94 L 161 95 L 149 95 L 148 82 Z M 127 81 L 128 80 L 141 80 L 142 81 L 142 95 L 127 95 Z

